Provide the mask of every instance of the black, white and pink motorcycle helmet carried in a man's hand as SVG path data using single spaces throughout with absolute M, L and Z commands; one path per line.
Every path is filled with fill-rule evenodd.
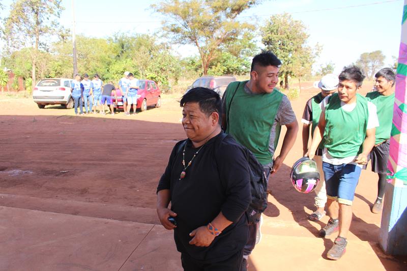
M 314 160 L 303 157 L 294 163 L 290 173 L 294 188 L 301 193 L 314 191 L 319 183 L 319 172 Z

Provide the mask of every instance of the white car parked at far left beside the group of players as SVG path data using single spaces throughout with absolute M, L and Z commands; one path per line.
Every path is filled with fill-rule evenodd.
M 60 104 L 65 108 L 73 108 L 71 82 L 68 78 L 41 79 L 33 89 L 33 99 L 39 108 L 49 104 Z

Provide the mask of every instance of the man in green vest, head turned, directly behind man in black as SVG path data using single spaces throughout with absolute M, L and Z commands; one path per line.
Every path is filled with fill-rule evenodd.
M 293 108 L 276 88 L 280 66 L 280 60 L 270 51 L 254 56 L 250 80 L 230 83 L 223 95 L 222 127 L 254 154 L 267 178 L 281 166 L 298 132 Z M 274 158 L 282 125 L 287 132 L 280 155 Z M 241 270 L 247 270 L 247 259 L 261 238 L 259 224 L 249 226 Z

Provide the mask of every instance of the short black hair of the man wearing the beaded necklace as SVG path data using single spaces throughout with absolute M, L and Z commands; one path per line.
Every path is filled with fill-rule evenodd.
M 180 106 L 184 107 L 186 103 L 198 103 L 199 109 L 207 116 L 213 112 L 219 114 L 219 124 L 222 123 L 222 101 L 217 92 L 206 87 L 191 88 L 181 98 Z

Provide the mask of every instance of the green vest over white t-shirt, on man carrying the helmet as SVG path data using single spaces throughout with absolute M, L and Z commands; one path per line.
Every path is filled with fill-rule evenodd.
M 369 113 L 365 97 L 356 94 L 356 107 L 352 112 L 341 108 L 337 93 L 325 108 L 325 147 L 334 158 L 357 156 L 363 151 Z

